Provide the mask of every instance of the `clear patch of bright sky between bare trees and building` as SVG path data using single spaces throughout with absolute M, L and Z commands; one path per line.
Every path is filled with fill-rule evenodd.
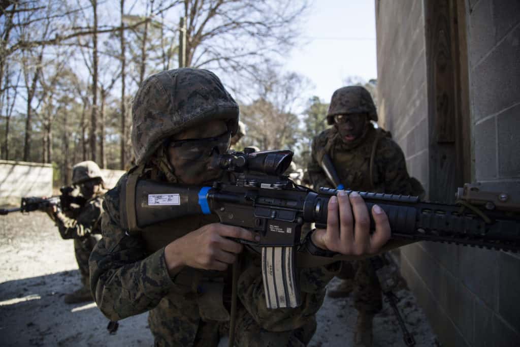
M 285 69 L 311 80 L 323 101 L 349 76 L 377 78 L 374 0 L 315 0 L 302 41 Z

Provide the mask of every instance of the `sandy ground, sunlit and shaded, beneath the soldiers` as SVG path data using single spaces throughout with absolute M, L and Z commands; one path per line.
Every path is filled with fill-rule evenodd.
M 0 345 L 150 346 L 147 314 L 120 322 L 116 335 L 95 303 L 67 305 L 63 295 L 79 288 L 71 240 L 62 240 L 41 212 L 0 216 Z M 399 308 L 417 346 L 438 342 L 413 294 L 397 292 Z M 327 298 L 310 346 L 352 345 L 357 312 L 352 299 Z M 226 339 L 220 346 L 226 346 Z M 374 318 L 375 346 L 405 346 L 391 307 Z

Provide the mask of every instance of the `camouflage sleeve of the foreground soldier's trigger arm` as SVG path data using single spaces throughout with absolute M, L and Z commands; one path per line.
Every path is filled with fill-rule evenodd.
M 103 237 L 89 259 L 90 290 L 105 316 L 119 320 L 153 309 L 175 287 L 166 268 L 164 248 L 149 254 L 141 237 L 119 224 L 119 185 L 103 203 Z

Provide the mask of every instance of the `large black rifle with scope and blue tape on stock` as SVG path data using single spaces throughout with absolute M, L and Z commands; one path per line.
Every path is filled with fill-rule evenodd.
M 304 223 L 326 227 L 327 205 L 337 190 L 314 191 L 283 176 L 292 156 L 290 150 L 254 152 L 248 148 L 220 155 L 214 165 L 229 171 L 231 179 L 211 187 L 130 177 L 120 195 L 123 227 L 132 233 L 178 217 L 214 213 L 223 224 L 249 229 L 260 240 L 237 241 L 262 254 L 267 306 L 297 307 L 301 302 L 296 264 L 319 266 L 352 257 L 323 252 L 310 238 L 301 240 Z M 388 245 L 394 248 L 424 240 L 520 250 L 519 199 L 504 192 L 465 185 L 457 191 L 457 204 L 421 202 L 413 196 L 359 194 L 369 210 L 378 204 L 386 212 L 392 230 Z M 371 217 L 372 230 L 374 225 Z

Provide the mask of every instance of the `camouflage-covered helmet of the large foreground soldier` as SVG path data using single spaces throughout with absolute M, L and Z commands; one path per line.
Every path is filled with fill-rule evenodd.
M 181 68 L 150 76 L 132 105 L 132 147 L 137 165 L 145 163 L 164 140 L 189 127 L 228 120 L 238 130 L 238 105 L 211 71 Z

